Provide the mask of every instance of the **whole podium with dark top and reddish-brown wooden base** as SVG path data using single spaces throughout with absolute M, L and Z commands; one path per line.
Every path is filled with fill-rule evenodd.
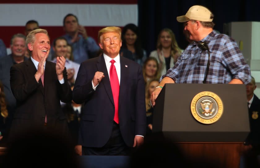
M 204 92 L 218 95 L 223 103 L 222 115 L 211 124 L 196 120 L 191 110 L 194 97 L 202 93 L 203 99 Z M 245 85 L 166 84 L 154 106 L 153 132 L 175 141 L 189 158 L 238 168 L 250 132 Z

